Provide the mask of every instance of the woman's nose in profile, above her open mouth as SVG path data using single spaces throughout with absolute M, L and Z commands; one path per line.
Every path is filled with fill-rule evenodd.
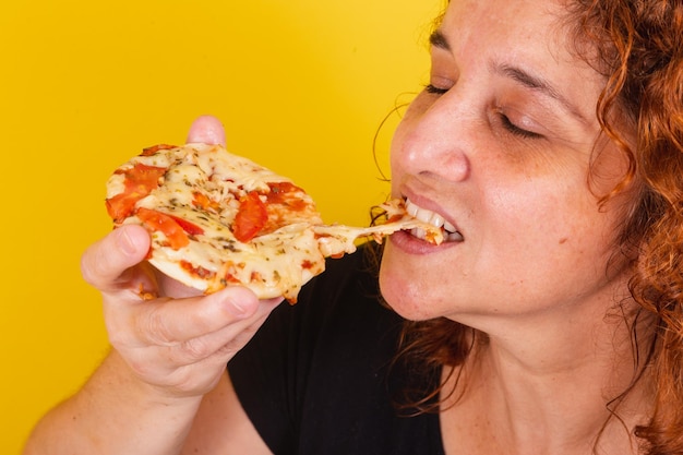
M 411 175 L 462 181 L 471 167 L 467 124 L 472 110 L 448 92 L 436 99 L 422 93 L 412 101 L 392 142 L 392 168 Z

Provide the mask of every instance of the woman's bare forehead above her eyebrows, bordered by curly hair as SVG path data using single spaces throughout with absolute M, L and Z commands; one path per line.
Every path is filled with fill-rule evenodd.
M 574 51 L 567 17 L 554 1 L 454 0 L 432 45 L 452 55 L 464 76 L 483 83 L 492 69 L 519 69 L 548 81 L 560 98 L 594 118 L 604 79 Z

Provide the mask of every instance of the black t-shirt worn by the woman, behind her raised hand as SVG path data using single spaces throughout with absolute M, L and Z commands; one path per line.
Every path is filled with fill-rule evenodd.
M 408 374 L 392 366 L 402 319 L 380 303 L 363 258 L 361 249 L 329 261 L 228 364 L 276 455 L 444 453 L 438 415 L 408 417 L 396 406 Z

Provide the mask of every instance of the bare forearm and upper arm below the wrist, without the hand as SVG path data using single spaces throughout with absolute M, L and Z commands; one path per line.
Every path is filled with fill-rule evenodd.
M 203 397 L 155 400 L 112 351 L 75 396 L 36 427 L 25 455 L 266 455 L 269 450 L 242 409 L 227 372 Z

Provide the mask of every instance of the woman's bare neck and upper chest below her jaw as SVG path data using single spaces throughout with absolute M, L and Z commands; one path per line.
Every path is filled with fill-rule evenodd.
M 606 454 L 637 453 L 631 431 L 648 399 L 635 382 L 631 330 L 623 316 L 590 320 L 598 322 L 515 321 L 498 332 L 504 335 L 489 334 L 444 403 L 444 441 L 463 438 L 446 422 L 465 421 L 460 430 L 476 445 L 462 452 L 459 444 L 456 453 L 590 454 L 599 446 L 609 447 Z

